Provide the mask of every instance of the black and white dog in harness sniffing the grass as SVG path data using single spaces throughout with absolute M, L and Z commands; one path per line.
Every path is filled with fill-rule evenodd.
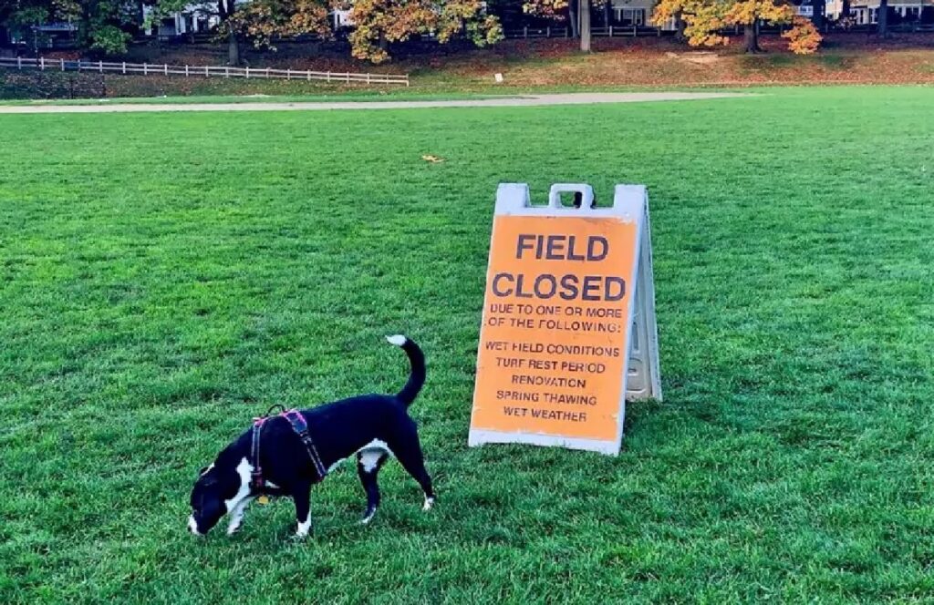
M 262 495 L 289 496 L 295 501 L 296 536 L 302 538 L 311 528 L 311 486 L 354 454 L 366 491 L 362 523 L 369 523 L 379 506 L 376 474 L 390 455 L 421 485 L 423 510 L 431 509 L 432 478 L 425 471 L 416 424 L 407 412 L 425 384 L 425 357 L 404 336 L 387 340 L 401 346 L 412 365 L 397 395 L 361 395 L 259 419 L 201 470 L 191 490 L 189 530 L 205 535 L 230 514 L 227 533 L 233 534 L 250 501 Z

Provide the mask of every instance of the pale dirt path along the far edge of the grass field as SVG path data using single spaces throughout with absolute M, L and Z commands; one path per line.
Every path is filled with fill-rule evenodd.
M 418 107 L 524 107 L 590 105 L 597 103 L 643 103 L 648 101 L 690 101 L 747 96 L 741 92 L 575 92 L 533 94 L 493 99 L 461 101 L 341 101 L 326 103 L 139 103 L 67 106 L 0 106 L 0 114 L 27 113 L 125 113 L 151 111 L 296 111 L 321 109 L 409 109 Z

